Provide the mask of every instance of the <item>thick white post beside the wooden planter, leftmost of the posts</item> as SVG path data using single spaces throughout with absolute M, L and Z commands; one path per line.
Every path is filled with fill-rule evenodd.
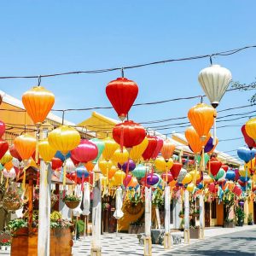
M 39 214 L 38 214 L 38 256 L 49 256 L 49 214 L 50 214 L 51 170 L 40 161 Z

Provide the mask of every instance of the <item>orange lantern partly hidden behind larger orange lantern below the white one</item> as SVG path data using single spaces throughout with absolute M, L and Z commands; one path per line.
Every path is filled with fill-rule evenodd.
M 207 138 L 204 141 L 201 141 L 199 135 L 195 131 L 193 126 L 189 126 L 189 128 L 185 131 L 185 137 L 189 143 L 189 147 L 195 154 L 201 154 L 201 149 L 207 144 L 207 141 L 211 137 L 210 132 L 207 134 Z

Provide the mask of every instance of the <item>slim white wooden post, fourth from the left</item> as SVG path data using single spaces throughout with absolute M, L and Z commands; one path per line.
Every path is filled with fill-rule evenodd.
M 164 237 L 165 249 L 172 247 L 171 233 L 170 233 L 170 187 L 165 188 L 165 237 Z

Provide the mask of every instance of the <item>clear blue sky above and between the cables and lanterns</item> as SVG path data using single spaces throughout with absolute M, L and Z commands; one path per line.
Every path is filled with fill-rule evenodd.
M 0 76 L 122 67 L 256 44 L 255 11 L 253 0 L 5 1 L 0 8 Z M 213 62 L 229 68 L 234 80 L 249 83 L 256 76 L 255 59 L 256 49 L 248 49 L 214 58 Z M 125 76 L 139 85 L 137 102 L 153 102 L 201 95 L 197 76 L 207 66 L 207 59 L 183 61 L 132 69 L 125 71 Z M 108 106 L 105 87 L 119 75 L 70 75 L 42 79 L 42 85 L 55 93 L 54 108 Z M 37 79 L 0 80 L 0 89 L 21 99 L 22 93 L 35 84 Z M 227 93 L 218 109 L 246 105 L 252 94 Z M 130 118 L 142 122 L 186 116 L 197 102 L 132 108 Z M 244 108 L 219 116 L 252 110 Z M 99 112 L 116 118 L 113 109 Z M 68 113 L 66 118 L 79 123 L 89 116 L 90 112 L 79 112 Z M 172 123 L 177 121 L 163 125 Z M 172 131 L 184 128 L 163 132 Z M 218 129 L 219 139 L 234 137 L 241 137 L 240 127 Z M 218 149 L 227 151 L 243 144 L 242 140 L 227 141 L 219 143 Z

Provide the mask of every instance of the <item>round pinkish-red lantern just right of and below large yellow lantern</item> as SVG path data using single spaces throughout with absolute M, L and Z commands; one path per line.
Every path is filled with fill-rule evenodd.
M 95 160 L 98 154 L 96 144 L 91 143 L 89 140 L 83 139 L 79 145 L 71 151 L 71 155 L 75 160 L 80 163 L 87 163 Z

